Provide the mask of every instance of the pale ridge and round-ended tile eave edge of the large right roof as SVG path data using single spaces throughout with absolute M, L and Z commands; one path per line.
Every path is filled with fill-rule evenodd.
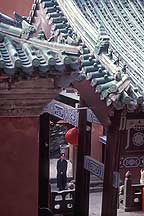
M 119 63 L 119 58 L 115 56 L 115 53 L 108 51 L 109 38 L 100 31 L 102 25 L 99 22 L 100 17 L 97 17 L 96 21 L 96 17 L 92 16 L 90 9 L 88 10 L 88 1 L 85 1 L 87 6 L 85 13 L 82 10 L 84 4 L 78 5 L 78 2 L 51 0 L 49 2 L 37 1 L 37 4 L 43 7 L 45 19 L 51 24 L 53 34 L 56 33 L 59 36 L 61 43 L 63 41 L 65 44 L 69 41 L 75 43 L 72 39 L 73 33 L 79 37 L 77 45 L 81 47 L 82 62 L 79 79 L 87 79 L 95 92 L 99 94 L 100 100 L 104 101 L 108 107 L 113 106 L 116 110 L 127 108 L 129 111 L 134 111 L 143 104 L 142 88 L 136 87 L 141 74 L 138 73 L 136 76 L 132 74 L 132 68 L 135 68 L 134 62 L 132 64 L 128 62 L 125 67 L 127 62 Z M 81 6 L 81 10 L 78 6 Z M 91 22 L 88 19 L 88 13 L 92 18 Z M 96 24 L 95 27 L 93 21 Z M 102 38 L 106 39 L 107 43 L 101 43 Z M 107 46 L 106 49 L 105 46 Z

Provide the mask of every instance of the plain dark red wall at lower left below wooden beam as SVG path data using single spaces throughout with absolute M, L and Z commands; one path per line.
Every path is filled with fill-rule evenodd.
M 0 215 L 37 216 L 38 119 L 0 118 Z

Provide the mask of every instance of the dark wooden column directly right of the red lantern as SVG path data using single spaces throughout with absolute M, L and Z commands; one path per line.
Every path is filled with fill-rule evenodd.
M 80 107 L 85 106 L 84 101 L 80 101 Z M 90 174 L 84 170 L 84 155 L 90 155 L 90 130 L 87 132 L 87 109 L 80 109 L 79 112 L 79 142 L 76 171 L 76 190 L 74 215 L 88 216 L 89 211 L 89 179 Z

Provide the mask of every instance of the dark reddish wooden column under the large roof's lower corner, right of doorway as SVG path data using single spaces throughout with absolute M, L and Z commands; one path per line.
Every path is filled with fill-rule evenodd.
M 105 170 L 102 200 L 102 216 L 117 215 L 118 187 L 116 177 L 119 174 L 120 151 L 122 146 L 122 136 L 119 131 L 120 115 L 112 118 L 111 126 L 107 131 L 107 144 L 105 152 Z

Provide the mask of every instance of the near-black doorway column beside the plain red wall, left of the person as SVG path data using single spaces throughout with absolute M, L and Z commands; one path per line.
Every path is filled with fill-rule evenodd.
M 49 114 L 40 116 L 39 131 L 39 208 L 49 203 Z

